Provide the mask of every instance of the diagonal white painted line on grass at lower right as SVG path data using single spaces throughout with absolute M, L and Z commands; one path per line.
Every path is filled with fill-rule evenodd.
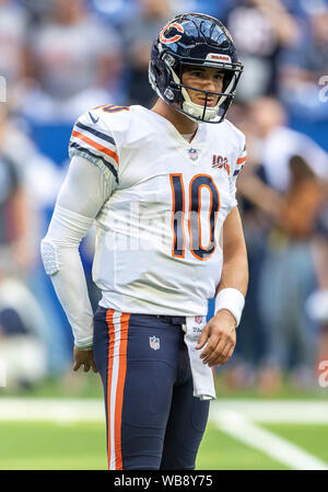
M 328 464 L 277 434 L 259 427 L 236 411 L 214 404 L 211 408 L 210 415 L 211 421 L 220 431 L 259 449 L 289 468 L 295 470 L 328 470 Z

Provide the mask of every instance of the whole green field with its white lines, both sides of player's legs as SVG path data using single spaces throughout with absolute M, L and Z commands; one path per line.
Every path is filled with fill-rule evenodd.
M 283 387 L 269 399 L 222 388 L 211 404 L 197 469 L 328 469 L 327 389 L 298 393 Z M 92 375 L 25 391 L 2 388 L 0 470 L 106 470 L 102 398 Z

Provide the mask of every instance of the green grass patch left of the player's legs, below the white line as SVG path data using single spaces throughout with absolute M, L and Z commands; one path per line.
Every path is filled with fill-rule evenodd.
M 101 423 L 1 422 L 2 470 L 105 470 L 106 432 Z

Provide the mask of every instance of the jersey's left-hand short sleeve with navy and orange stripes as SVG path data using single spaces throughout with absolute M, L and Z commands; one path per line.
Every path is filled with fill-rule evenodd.
M 91 110 L 78 118 L 69 142 L 69 156 L 83 157 L 96 164 L 105 179 L 119 183 L 119 158 L 115 139 L 102 114 Z

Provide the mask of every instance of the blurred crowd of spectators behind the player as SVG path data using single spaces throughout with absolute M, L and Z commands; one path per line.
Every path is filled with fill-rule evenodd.
M 72 337 L 39 259 L 90 107 L 151 107 L 153 38 L 175 14 L 231 31 L 245 71 L 227 118 L 246 134 L 238 178 L 250 282 L 229 388 L 317 388 L 328 359 L 328 0 L 0 0 L 0 359 L 30 387 L 71 369 Z M 93 306 L 92 234 L 81 253 Z

